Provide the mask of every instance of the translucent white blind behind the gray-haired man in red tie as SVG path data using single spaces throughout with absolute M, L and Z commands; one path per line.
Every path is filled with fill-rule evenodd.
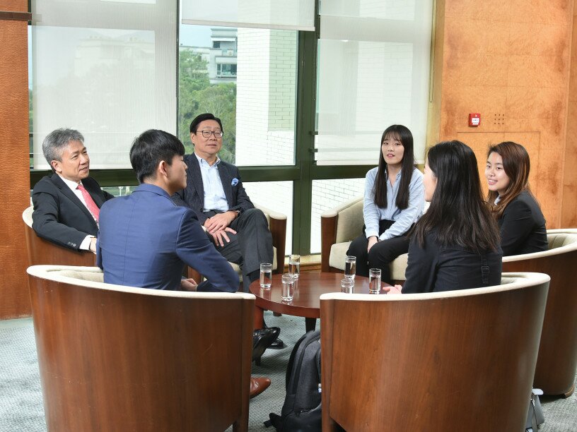
M 132 140 L 147 129 L 176 133 L 176 10 L 175 1 L 33 3 L 36 169 L 49 168 L 42 140 L 55 128 L 83 133 L 92 169 L 129 168 Z

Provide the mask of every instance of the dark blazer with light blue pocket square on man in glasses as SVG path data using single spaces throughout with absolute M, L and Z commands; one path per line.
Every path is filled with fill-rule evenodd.
M 175 193 L 172 198 L 177 205 L 192 209 L 197 215 L 199 222 L 204 224 L 207 217 L 203 213 L 204 186 L 202 184 L 200 164 L 194 153 L 185 156 L 185 163 L 187 164 L 187 187 Z M 221 162 L 218 162 L 218 175 L 221 177 L 224 194 L 228 201 L 228 210 L 243 212 L 244 210 L 255 208 L 250 198 L 248 198 L 245 188 L 243 188 L 243 182 L 240 181 L 240 172 L 238 172 L 238 168 L 235 165 L 221 160 Z

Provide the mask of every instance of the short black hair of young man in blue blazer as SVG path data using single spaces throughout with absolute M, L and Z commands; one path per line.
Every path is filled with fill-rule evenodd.
M 175 156 L 184 156 L 185 146 L 172 133 L 149 129 L 134 138 L 130 148 L 130 163 L 139 183 L 155 178 L 161 161 L 171 165 Z

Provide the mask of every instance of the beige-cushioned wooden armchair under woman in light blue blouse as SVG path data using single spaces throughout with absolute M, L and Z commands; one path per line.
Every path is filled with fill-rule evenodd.
M 320 260 L 323 272 L 342 272 L 349 244 L 363 232 L 363 197 L 354 198 L 320 215 Z M 391 279 L 405 280 L 407 253 L 390 263 Z

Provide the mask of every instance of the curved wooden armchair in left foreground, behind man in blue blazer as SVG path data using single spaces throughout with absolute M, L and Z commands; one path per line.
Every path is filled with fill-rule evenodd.
M 28 275 L 49 431 L 247 431 L 255 296 Z

